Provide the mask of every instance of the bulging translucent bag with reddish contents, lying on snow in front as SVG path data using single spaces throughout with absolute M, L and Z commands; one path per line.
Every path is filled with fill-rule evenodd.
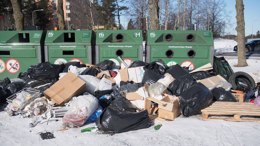
M 98 100 L 96 97 L 91 95 L 79 96 L 70 105 L 70 109 L 62 118 L 62 123 L 69 127 L 82 126 L 97 107 Z

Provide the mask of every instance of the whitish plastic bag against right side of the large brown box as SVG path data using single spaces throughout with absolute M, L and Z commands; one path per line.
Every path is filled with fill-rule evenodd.
M 90 94 L 94 94 L 95 91 L 99 90 L 100 80 L 92 75 L 78 75 L 78 77 L 86 82 L 86 91 Z

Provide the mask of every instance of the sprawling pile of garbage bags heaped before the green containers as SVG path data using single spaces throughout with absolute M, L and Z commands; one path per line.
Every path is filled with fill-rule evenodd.
M 219 59 L 215 58 L 215 60 Z M 76 96 L 70 97 L 69 100 L 59 97 L 59 100 L 64 100 L 61 106 L 68 107 L 62 118 L 63 124 L 69 127 L 80 127 L 85 123 L 95 122 L 96 126 L 103 131 L 121 133 L 149 128 L 152 125 L 148 117 L 150 111 L 127 99 L 127 96 L 131 95 L 129 93 L 137 92 L 145 86 L 149 86 L 147 95 L 139 95 L 136 98 L 144 98 L 136 99 L 136 101 L 144 105 L 147 97 L 162 100 L 166 94 L 175 96 L 178 98 L 184 117 L 198 114 L 212 101 L 238 101 L 232 94 L 236 92 L 234 85 L 228 82 L 229 74 L 227 75 L 226 71 L 220 71 L 224 67 L 190 73 L 191 70 L 178 64 L 167 66 L 162 60 L 155 60 L 151 63 L 134 61 L 128 69 L 137 68 L 144 73 L 142 77 L 136 77 L 140 78 L 138 82 L 138 79 L 130 79 L 120 70 L 113 69 L 113 64 L 111 60 L 103 60 L 96 65 L 86 64 L 86 66 L 82 66 L 80 62 L 59 65 L 45 62 L 32 65 L 27 72 L 20 73 L 17 79 L 10 80 L 7 77 L 0 83 L 1 103 L 6 103 L 6 98 L 12 95 L 17 96 L 24 88 L 32 88 L 39 90 L 42 94 L 40 98 L 32 100 L 25 108 L 23 107 L 26 116 L 44 113 L 47 115 L 46 112 L 51 111 L 55 106 L 55 98 L 49 95 L 49 97 L 41 97 L 46 96 L 45 91 L 58 84 L 68 72 L 71 72 L 75 75 L 74 80 L 79 78 L 85 85 L 82 85 L 83 90 L 77 90 Z M 219 65 L 220 62 L 214 64 Z M 216 75 L 221 75 L 224 79 L 214 85 L 205 85 L 204 79 L 216 77 Z M 259 84 L 254 90 L 250 89 L 250 92 L 248 88 L 241 86 L 236 89 L 250 94 L 246 94 L 246 102 L 255 100 L 259 105 L 259 96 L 257 98 L 255 96 L 256 93 L 260 95 Z M 59 92 L 62 90 L 65 89 Z M 56 105 L 58 105 L 57 102 Z M 158 107 L 158 104 L 152 102 L 148 106 Z M 21 110 L 23 109 L 11 109 L 10 105 L 6 107 L 8 114 L 13 112 L 12 114 L 19 115 L 22 113 Z

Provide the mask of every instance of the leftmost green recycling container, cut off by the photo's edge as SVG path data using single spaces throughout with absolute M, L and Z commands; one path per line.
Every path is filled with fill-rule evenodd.
M 46 31 L 0 31 L 0 80 L 44 62 Z

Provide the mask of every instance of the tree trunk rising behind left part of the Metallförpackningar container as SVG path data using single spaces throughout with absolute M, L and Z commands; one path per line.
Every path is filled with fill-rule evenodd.
M 65 20 L 64 20 L 64 11 L 63 11 L 63 0 L 58 0 L 58 19 L 59 19 L 59 30 L 66 30 Z M 68 19 L 68 16 L 67 16 Z M 68 20 L 67 20 L 68 21 Z

